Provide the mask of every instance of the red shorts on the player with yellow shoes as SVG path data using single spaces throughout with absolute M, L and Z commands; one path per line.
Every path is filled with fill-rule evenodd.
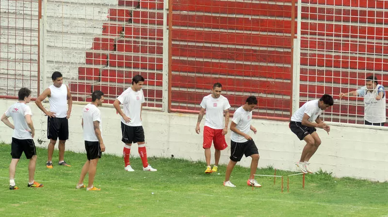
M 214 143 L 214 149 L 224 150 L 227 147 L 224 130 L 215 130 L 208 126 L 203 128 L 203 148 L 210 149 L 211 142 Z

